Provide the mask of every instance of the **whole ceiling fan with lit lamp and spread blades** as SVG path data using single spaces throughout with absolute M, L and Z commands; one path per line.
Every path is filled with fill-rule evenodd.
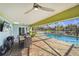
M 34 3 L 32 9 L 28 10 L 28 11 L 25 12 L 24 14 L 27 14 L 27 13 L 31 12 L 32 10 L 38 10 L 38 9 L 41 9 L 41 10 L 44 10 L 44 11 L 49 11 L 49 12 L 53 12 L 53 11 L 54 11 L 54 10 L 51 9 L 51 8 L 43 7 L 43 6 L 40 6 L 40 5 L 37 4 L 37 3 Z

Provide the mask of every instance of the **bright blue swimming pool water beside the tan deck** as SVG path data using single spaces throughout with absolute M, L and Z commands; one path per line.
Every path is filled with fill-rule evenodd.
M 64 42 L 75 44 L 79 46 L 79 37 L 73 37 L 73 36 L 65 36 L 65 35 L 57 35 L 57 34 L 46 34 L 49 38 L 55 38 L 57 40 L 62 40 Z

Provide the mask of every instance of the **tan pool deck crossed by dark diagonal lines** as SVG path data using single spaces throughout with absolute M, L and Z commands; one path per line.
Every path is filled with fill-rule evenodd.
M 66 42 L 54 38 L 37 34 L 32 38 L 32 41 L 29 50 L 30 56 L 79 56 L 79 47 L 75 48 Z M 21 53 L 22 56 L 27 56 L 27 48 L 24 48 Z

